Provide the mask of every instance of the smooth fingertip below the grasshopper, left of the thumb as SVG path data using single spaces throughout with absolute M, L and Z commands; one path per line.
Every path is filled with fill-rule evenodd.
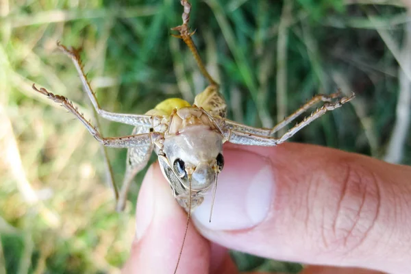
M 136 240 L 123 273 L 174 273 L 187 215 L 158 164 L 147 171 L 136 211 Z M 190 224 L 177 273 L 209 273 L 209 267 L 210 243 Z

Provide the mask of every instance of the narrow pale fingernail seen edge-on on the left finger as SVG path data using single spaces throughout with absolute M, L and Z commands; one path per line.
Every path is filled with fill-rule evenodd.
M 153 166 L 147 171 L 138 192 L 136 207 L 136 240 L 145 234 L 153 219 Z

